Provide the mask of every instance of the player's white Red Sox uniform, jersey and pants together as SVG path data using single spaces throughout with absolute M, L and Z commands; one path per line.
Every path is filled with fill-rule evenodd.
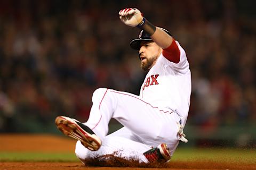
M 84 124 L 98 135 L 102 146 L 90 151 L 77 141 L 79 159 L 115 153 L 148 162 L 143 152 L 161 143 L 166 143 L 173 155 L 180 140 L 179 125 L 187 120 L 191 93 L 189 63 L 185 51 L 175 42 L 180 50 L 179 63 L 161 54 L 146 75 L 140 96 L 105 88 L 94 91 L 90 117 Z M 110 118 L 124 127 L 107 135 Z

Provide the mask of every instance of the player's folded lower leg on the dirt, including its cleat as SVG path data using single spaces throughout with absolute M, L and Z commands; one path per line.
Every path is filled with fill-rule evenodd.
M 148 145 L 137 142 L 132 132 L 123 127 L 122 129 L 107 135 L 98 151 L 90 151 L 86 149 L 81 141 L 76 144 L 76 156 L 86 163 L 86 159 L 98 158 L 100 160 L 107 159 L 106 155 L 114 155 L 127 160 L 138 160 L 139 162 L 166 162 L 170 160 L 170 152 L 165 143 L 161 143 L 158 147 L 151 148 Z

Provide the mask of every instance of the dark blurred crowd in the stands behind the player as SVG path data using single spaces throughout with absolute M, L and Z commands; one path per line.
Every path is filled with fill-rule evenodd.
M 0 132 L 47 131 L 58 115 L 82 122 L 99 87 L 139 95 L 145 72 L 129 46 L 137 7 L 185 49 L 191 125 L 256 121 L 256 22 L 246 1 L 0 1 Z M 253 3 L 253 1 L 251 1 Z

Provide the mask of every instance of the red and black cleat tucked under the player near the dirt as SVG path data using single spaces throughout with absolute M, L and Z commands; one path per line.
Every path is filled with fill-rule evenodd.
M 167 162 L 171 159 L 170 152 L 165 143 L 158 145 L 156 148 L 150 149 L 143 153 L 150 163 Z

